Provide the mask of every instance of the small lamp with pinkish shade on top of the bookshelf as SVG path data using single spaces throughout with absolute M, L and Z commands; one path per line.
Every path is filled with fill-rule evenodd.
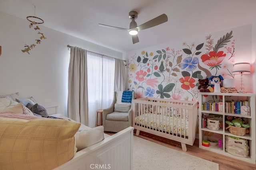
M 233 74 L 241 74 L 241 92 L 246 93 L 245 90 L 243 90 L 243 74 L 250 74 L 250 63 L 236 63 L 234 64 L 234 68 L 232 71 Z

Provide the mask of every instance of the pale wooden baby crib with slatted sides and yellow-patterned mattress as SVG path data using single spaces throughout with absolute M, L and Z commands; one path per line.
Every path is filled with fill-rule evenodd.
M 145 131 L 181 143 L 193 145 L 198 126 L 198 104 L 194 101 L 140 98 L 132 100 L 132 126 L 136 135 Z

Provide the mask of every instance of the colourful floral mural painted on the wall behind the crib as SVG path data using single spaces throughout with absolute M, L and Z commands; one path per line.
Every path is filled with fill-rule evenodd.
M 184 42 L 180 49 L 141 51 L 128 59 L 128 89 L 136 98 L 197 100 L 198 79 L 212 75 L 234 78 L 234 45 L 230 31 L 219 39 L 208 35 L 205 42 Z

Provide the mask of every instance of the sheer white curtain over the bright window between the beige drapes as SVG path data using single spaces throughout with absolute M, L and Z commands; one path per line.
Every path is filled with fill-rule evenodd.
M 111 105 L 114 94 L 115 60 L 87 53 L 89 127 L 96 126 L 96 110 Z

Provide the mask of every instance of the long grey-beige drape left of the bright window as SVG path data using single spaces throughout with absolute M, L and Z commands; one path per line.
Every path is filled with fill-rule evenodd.
M 68 66 L 68 117 L 88 126 L 87 51 L 70 48 Z

